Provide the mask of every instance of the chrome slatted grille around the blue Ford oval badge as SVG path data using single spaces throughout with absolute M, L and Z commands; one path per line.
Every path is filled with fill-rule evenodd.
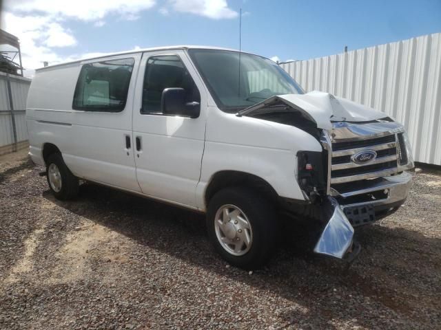
M 398 172 L 396 134 L 363 140 L 338 140 L 332 143 L 331 184 L 381 177 Z M 357 164 L 351 156 L 362 151 L 376 151 L 377 156 L 371 162 Z

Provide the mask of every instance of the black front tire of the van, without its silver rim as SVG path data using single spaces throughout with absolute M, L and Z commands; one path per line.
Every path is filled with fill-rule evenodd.
M 234 256 L 223 248 L 216 236 L 216 212 L 227 204 L 237 206 L 246 214 L 252 227 L 251 248 L 243 256 Z M 216 251 L 229 263 L 245 270 L 263 267 L 276 250 L 278 217 L 269 199 L 246 187 L 224 188 L 209 201 L 207 230 Z

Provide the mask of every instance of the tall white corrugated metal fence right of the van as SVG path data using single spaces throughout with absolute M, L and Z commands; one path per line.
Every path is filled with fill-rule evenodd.
M 305 91 L 326 91 L 406 126 L 417 162 L 441 165 L 441 33 L 281 63 Z

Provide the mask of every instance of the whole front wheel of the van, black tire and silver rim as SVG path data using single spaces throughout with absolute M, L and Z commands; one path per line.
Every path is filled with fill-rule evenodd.
M 237 267 L 252 270 L 267 263 L 276 247 L 277 223 L 273 204 L 249 188 L 225 188 L 209 201 L 209 237 L 223 259 Z

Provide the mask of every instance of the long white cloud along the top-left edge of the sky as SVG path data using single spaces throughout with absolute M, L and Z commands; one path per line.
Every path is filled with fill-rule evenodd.
M 13 12 L 40 12 L 81 21 L 101 20 L 107 14 L 120 14 L 125 19 L 139 17 L 141 10 L 152 8 L 155 0 L 9 0 L 6 9 Z

